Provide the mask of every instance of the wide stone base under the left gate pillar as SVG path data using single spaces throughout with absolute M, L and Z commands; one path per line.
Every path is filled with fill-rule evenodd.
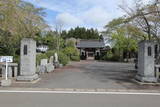
M 38 79 L 38 74 L 32 76 L 18 76 L 17 81 L 33 81 Z

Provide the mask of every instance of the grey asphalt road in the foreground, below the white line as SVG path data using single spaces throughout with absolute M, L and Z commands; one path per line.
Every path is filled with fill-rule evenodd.
M 0 107 L 159 107 L 159 95 L 0 93 Z

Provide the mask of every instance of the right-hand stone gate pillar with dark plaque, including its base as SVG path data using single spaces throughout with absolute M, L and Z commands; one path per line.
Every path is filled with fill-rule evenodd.
M 141 82 L 157 82 L 155 77 L 155 43 L 141 41 L 138 49 L 138 73 L 136 79 Z

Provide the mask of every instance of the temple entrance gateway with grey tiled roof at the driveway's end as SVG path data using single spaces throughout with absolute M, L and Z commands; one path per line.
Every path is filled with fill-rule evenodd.
M 88 57 L 94 57 L 95 60 L 99 60 L 106 50 L 105 47 L 104 41 L 101 40 L 80 40 L 77 43 L 81 60 L 86 60 Z

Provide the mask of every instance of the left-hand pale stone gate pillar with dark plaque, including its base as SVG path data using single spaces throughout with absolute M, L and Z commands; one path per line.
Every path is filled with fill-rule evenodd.
M 17 80 L 38 79 L 38 74 L 36 74 L 36 41 L 31 38 L 22 39 L 20 53 L 20 76 L 17 77 Z

